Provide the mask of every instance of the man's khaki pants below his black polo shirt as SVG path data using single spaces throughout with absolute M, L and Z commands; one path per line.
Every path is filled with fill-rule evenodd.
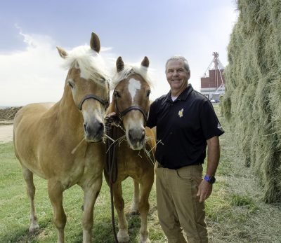
M 180 169 L 157 168 L 156 190 L 159 222 L 169 243 L 207 243 L 204 202 L 196 197 L 202 165 Z

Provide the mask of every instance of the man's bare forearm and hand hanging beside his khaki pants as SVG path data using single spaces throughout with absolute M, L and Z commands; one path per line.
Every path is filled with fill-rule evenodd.
M 214 176 L 216 174 L 216 168 L 218 167 L 218 161 L 220 158 L 220 146 L 218 136 L 212 137 L 207 140 L 207 172 L 208 176 Z M 197 197 L 200 197 L 200 202 L 207 200 L 211 195 L 212 185 L 208 181 L 202 180 L 199 187 Z

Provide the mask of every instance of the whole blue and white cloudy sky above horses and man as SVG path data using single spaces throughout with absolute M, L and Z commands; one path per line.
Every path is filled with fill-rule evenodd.
M 237 21 L 235 0 L 9 0 L 0 2 L 0 106 L 58 102 L 67 71 L 55 46 L 72 50 L 98 34 L 112 60 L 150 60 L 151 99 L 169 92 L 164 64 L 172 55 L 189 64 L 189 83 L 200 78 L 227 46 Z

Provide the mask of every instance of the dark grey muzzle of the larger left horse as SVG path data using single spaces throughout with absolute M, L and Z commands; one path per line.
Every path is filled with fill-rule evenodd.
M 84 123 L 84 134 L 86 141 L 98 142 L 103 138 L 105 125 L 99 121 Z

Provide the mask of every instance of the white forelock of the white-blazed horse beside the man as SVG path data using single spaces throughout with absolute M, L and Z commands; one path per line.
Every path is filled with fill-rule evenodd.
M 147 67 L 143 67 L 141 65 L 125 65 L 124 69 L 122 71 L 119 71 L 113 76 L 112 78 L 112 89 L 114 90 L 118 83 L 120 83 L 122 80 L 128 78 L 129 76 L 133 74 L 140 75 L 150 87 L 153 86 L 152 78 L 150 71 L 148 71 Z

